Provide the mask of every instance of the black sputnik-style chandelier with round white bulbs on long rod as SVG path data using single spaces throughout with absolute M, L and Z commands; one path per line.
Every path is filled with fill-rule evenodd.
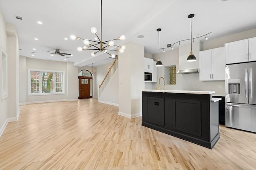
M 92 27 L 91 32 L 96 35 L 96 37 L 99 41 L 83 39 L 81 37 L 76 37 L 76 35 L 70 35 L 70 39 L 72 39 L 72 40 L 75 40 L 75 39 L 81 40 L 82 39 L 84 42 L 85 46 L 77 47 L 77 51 L 80 52 L 80 51 L 86 51 L 86 50 L 96 50 L 96 52 L 91 53 L 92 57 L 94 57 L 98 52 L 103 52 L 103 53 L 110 55 L 110 57 L 112 57 L 112 58 L 115 58 L 116 55 L 110 54 L 109 51 L 116 51 L 116 52 L 124 53 L 125 46 L 124 45 L 122 45 L 122 46 L 115 45 L 114 41 L 115 40 L 124 41 L 126 39 L 125 35 L 121 35 L 120 37 L 118 37 L 116 39 L 102 41 L 102 0 L 100 0 L 100 38 L 98 37 L 96 27 Z M 118 47 L 118 49 L 106 49 L 109 46 Z

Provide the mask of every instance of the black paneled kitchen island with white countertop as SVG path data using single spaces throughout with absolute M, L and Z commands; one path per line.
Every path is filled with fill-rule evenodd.
M 142 125 L 212 149 L 218 139 L 215 92 L 142 90 Z

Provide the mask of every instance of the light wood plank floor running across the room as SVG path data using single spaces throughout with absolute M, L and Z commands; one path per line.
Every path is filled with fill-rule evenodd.
M 0 137 L 0 169 L 256 168 L 256 134 L 220 126 L 207 149 L 141 126 L 97 99 L 20 106 Z

